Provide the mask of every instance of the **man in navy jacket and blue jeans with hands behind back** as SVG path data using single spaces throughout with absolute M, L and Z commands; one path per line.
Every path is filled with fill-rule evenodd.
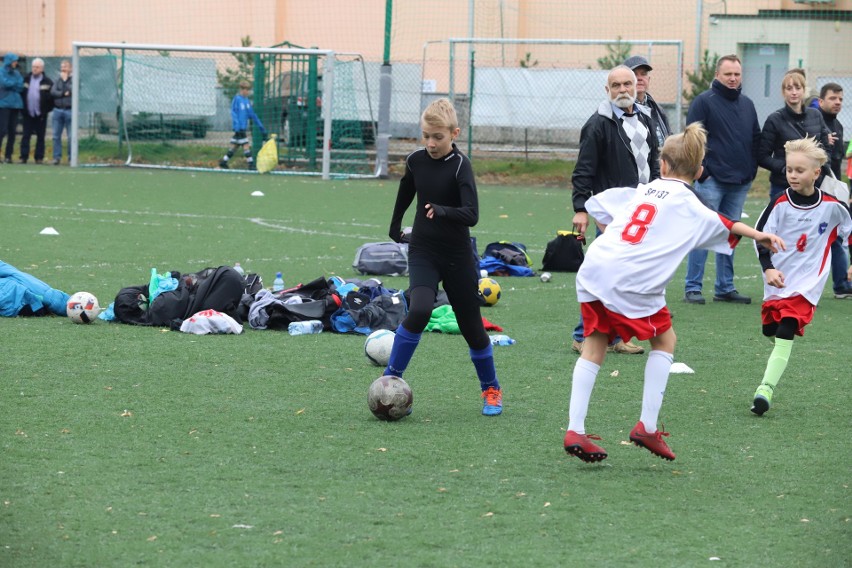
M 687 125 L 701 122 L 707 131 L 704 173 L 695 184 L 697 193 L 717 213 L 739 221 L 746 195 L 757 174 L 760 123 L 754 103 L 742 94 L 742 63 L 736 55 L 725 55 L 716 64 L 710 88 L 689 105 Z M 689 253 L 684 301 L 704 304 L 704 265 L 707 251 Z M 714 302 L 750 304 L 734 287 L 734 255 L 716 253 Z

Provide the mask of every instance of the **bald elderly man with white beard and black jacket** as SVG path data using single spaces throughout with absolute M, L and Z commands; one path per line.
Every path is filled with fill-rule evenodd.
M 636 75 L 625 65 L 607 77 L 609 95 L 580 131 L 580 153 L 571 176 L 574 228 L 585 236 L 589 227 L 586 201 L 611 187 L 636 187 L 660 177 L 659 147 L 648 109 L 636 104 Z M 574 329 L 571 348 L 583 348 L 583 320 Z M 610 345 L 615 353 L 641 354 L 645 350 L 619 338 Z

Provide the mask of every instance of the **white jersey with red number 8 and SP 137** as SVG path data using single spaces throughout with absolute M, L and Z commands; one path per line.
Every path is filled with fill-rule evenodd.
M 577 273 L 577 299 L 600 300 L 632 319 L 666 305 L 666 285 L 690 251 L 731 254 L 739 240 L 730 232 L 733 221 L 677 180 L 607 189 L 589 199 L 586 210 L 607 227 Z

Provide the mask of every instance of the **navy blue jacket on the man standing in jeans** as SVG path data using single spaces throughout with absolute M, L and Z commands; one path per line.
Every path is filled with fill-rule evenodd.
M 704 173 L 722 183 L 743 185 L 757 175 L 760 123 L 742 88 L 729 89 L 718 80 L 689 105 L 686 123 L 701 122 L 707 130 Z

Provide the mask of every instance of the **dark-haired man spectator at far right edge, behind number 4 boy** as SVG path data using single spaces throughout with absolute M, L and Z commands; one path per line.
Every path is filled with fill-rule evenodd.
M 819 110 L 828 128 L 828 165 L 834 177 L 841 179 L 840 166 L 843 162 L 843 125 L 837 115 L 843 109 L 843 87 L 837 83 L 826 83 L 819 90 Z M 838 300 L 852 298 L 852 284 L 846 278 L 849 269 L 849 249 L 838 237 L 831 243 L 831 280 L 834 297 Z

